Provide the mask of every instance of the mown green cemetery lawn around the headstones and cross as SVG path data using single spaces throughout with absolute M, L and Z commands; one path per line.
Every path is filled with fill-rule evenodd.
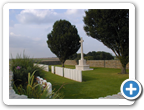
M 65 65 L 65 68 L 74 69 L 75 66 Z M 117 94 L 120 92 L 121 83 L 129 78 L 129 74 L 118 74 L 121 69 L 92 68 L 94 70 L 82 71 L 82 82 L 67 79 L 51 72 L 45 71 L 43 74 L 44 79 L 52 83 L 54 92 L 59 90 L 58 92 L 64 99 L 95 99 Z

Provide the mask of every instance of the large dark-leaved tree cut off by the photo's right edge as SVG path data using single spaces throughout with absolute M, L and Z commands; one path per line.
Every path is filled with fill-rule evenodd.
M 112 49 L 126 73 L 129 62 L 129 10 L 89 9 L 85 11 L 84 30 L 88 36 Z

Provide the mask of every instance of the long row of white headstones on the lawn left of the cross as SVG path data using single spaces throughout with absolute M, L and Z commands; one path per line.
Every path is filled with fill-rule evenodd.
M 54 71 L 54 66 L 51 66 L 51 72 L 63 76 L 65 78 L 82 82 L 82 72 L 80 70 L 63 68 L 63 67 L 55 67 L 55 71 Z

